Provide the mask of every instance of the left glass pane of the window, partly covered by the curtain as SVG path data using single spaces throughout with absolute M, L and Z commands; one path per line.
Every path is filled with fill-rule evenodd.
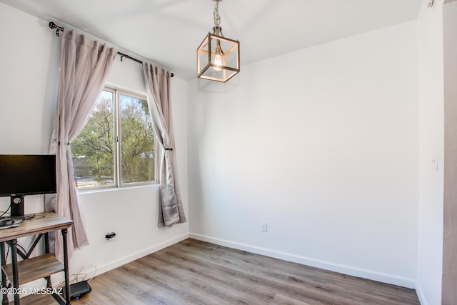
M 86 126 L 71 143 L 79 189 L 114 185 L 114 92 L 104 90 Z

